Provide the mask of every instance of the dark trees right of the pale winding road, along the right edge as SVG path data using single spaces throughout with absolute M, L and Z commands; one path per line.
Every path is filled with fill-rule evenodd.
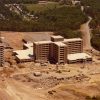
M 81 0 L 85 6 L 85 12 L 93 19 L 90 23 L 92 31 L 92 45 L 100 51 L 100 0 Z

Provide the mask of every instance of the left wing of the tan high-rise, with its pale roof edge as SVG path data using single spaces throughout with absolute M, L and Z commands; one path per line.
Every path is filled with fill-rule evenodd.
M 49 61 L 50 59 L 50 50 L 51 50 L 51 41 L 39 41 L 34 42 L 34 56 L 35 61 Z

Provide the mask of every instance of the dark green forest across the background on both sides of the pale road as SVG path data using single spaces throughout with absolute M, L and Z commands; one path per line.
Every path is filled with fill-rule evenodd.
M 59 0 L 49 0 L 56 1 Z M 63 0 L 66 2 L 66 0 Z M 70 1 L 70 0 L 68 0 Z M 67 38 L 79 37 L 77 31 L 80 25 L 87 21 L 80 7 L 61 7 L 36 13 L 36 19 L 23 20 L 21 15 L 9 11 L 5 4 L 9 3 L 37 3 L 38 0 L 0 0 L 0 30 L 1 31 L 55 31 L 56 34 Z M 100 50 L 100 0 L 81 0 L 87 15 L 92 16 L 91 21 L 93 47 Z M 27 8 L 23 7 L 23 10 Z

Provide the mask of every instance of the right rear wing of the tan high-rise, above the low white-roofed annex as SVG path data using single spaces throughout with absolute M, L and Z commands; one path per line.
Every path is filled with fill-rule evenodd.
M 68 54 L 83 52 L 83 41 L 81 38 L 64 39 L 63 43 L 67 45 Z

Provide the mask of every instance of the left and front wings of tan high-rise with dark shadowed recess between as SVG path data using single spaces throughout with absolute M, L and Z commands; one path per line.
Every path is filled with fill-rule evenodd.
M 62 42 L 35 42 L 34 57 L 36 62 L 66 63 L 67 46 Z

